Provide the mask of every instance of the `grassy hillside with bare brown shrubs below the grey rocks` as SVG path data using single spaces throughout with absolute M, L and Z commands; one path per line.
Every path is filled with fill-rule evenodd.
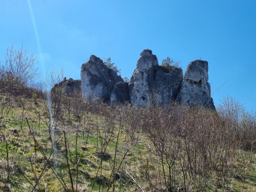
M 0 191 L 256 191 L 255 116 L 51 98 L 1 95 Z

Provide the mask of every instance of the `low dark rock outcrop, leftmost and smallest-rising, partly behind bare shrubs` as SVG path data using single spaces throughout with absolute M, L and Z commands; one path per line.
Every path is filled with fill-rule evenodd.
M 68 97 L 80 97 L 82 93 L 81 85 L 81 80 L 74 80 L 70 78 L 68 80 L 63 80 L 59 83 L 56 83 L 51 89 L 51 92 L 56 88 L 62 88 L 62 92 L 65 93 Z

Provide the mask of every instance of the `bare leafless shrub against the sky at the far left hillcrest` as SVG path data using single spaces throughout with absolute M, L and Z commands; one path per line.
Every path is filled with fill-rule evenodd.
M 5 61 L 0 61 L 0 90 L 16 96 L 31 98 L 33 95 L 41 96 L 35 82 L 41 77 L 36 68 L 36 58 L 33 53 L 23 49 L 7 48 Z

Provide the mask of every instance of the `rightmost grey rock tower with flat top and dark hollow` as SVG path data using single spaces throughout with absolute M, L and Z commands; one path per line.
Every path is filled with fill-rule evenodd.
M 188 64 L 177 100 L 180 103 L 215 108 L 208 82 L 208 62 L 194 60 Z

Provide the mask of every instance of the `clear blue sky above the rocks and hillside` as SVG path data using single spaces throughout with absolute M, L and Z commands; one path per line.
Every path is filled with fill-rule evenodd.
M 23 44 L 41 73 L 63 67 L 80 79 L 91 54 L 111 57 L 131 77 L 143 49 L 158 58 L 209 62 L 215 104 L 230 95 L 256 110 L 256 1 L 1 0 L 0 59 Z

